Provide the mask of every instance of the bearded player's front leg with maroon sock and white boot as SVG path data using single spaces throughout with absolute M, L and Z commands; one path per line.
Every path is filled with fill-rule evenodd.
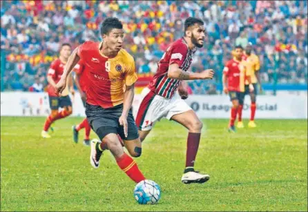
M 177 105 L 177 107 L 183 107 L 183 104 L 186 103 L 183 101 L 182 105 L 179 104 Z M 195 157 L 198 153 L 203 124 L 197 117 L 195 112 L 191 110 L 191 108 L 189 108 L 189 106 L 186 105 L 186 108 L 189 110 L 186 110 L 184 113 L 179 113 L 180 110 L 178 110 L 178 114 L 173 113 L 174 115 L 171 114 L 172 117 L 170 118 L 175 122 L 182 124 L 182 126 L 186 127 L 189 130 L 186 147 L 186 164 L 184 174 L 182 175 L 182 182 L 184 182 L 185 184 L 204 183 L 209 180 L 209 175 L 200 174 L 194 169 Z M 167 116 L 167 118 L 169 117 Z

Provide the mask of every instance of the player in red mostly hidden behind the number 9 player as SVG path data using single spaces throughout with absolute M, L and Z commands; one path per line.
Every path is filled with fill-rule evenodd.
M 79 60 L 78 64 L 75 66 L 74 71 L 75 71 L 75 77 L 74 81 L 77 86 L 77 89 L 79 91 L 82 103 L 84 104 L 84 107 L 86 108 L 86 72 L 85 70 L 85 65 L 82 60 Z M 82 128 L 85 128 L 84 131 L 84 145 L 90 146 L 90 131 L 91 127 L 88 122 L 88 119 L 85 118 L 80 124 L 77 126 L 73 126 L 73 141 L 77 144 L 78 143 L 78 134 L 79 131 Z

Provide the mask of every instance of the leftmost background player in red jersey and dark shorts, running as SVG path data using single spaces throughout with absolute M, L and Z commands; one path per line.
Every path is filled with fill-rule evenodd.
M 59 59 L 53 61 L 48 70 L 48 75 L 47 75 L 48 97 L 49 97 L 49 105 L 51 113 L 46 119 L 43 131 L 41 131 L 41 137 L 49 138 L 50 135 L 48 134 L 48 129 L 50 128 L 50 125 L 57 119 L 62 119 L 64 117 L 67 117 L 73 112 L 72 102 L 70 101 L 70 96 L 68 95 L 69 93 L 68 90 L 70 90 L 70 92 L 74 94 L 73 79 L 71 76 L 68 77 L 68 82 L 67 82 L 68 86 L 61 93 L 61 96 L 59 97 L 55 93 L 55 86 L 61 78 L 61 75 L 64 71 L 64 67 L 66 66 L 68 57 L 70 57 L 71 52 L 72 48 L 70 44 L 62 44 L 60 49 Z M 64 110 L 61 110 L 59 112 L 59 108 L 64 108 Z

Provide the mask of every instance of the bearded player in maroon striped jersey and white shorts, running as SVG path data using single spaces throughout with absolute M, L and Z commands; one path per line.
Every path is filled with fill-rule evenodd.
M 189 130 L 186 167 L 182 175 L 182 182 L 185 184 L 203 183 L 209 180 L 209 175 L 200 174 L 193 168 L 200 143 L 202 122 L 191 107 L 179 95 L 176 95 L 182 80 L 213 77 L 213 70 L 204 70 L 201 73 L 186 72 L 191 65 L 193 54 L 197 48 L 203 46 L 204 37 L 203 21 L 193 17 L 186 19 L 184 37 L 173 42 L 166 50 L 158 63 L 157 73 L 153 80 L 147 88 L 142 90 L 142 100 L 136 117 L 142 141 L 150 133 L 155 122 L 162 117 L 178 122 Z M 182 97 L 186 96 L 182 95 Z

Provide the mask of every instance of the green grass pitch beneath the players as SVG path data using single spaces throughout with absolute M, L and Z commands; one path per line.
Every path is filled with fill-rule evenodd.
M 180 182 L 187 132 L 158 122 L 136 159 L 162 188 L 156 205 L 137 204 L 109 152 L 90 166 L 90 148 L 72 141 L 81 120 L 59 120 L 43 139 L 44 118 L 1 117 L 1 211 L 307 211 L 307 120 L 257 120 L 229 134 L 227 119 L 204 119 L 195 168 L 211 180 L 189 185 Z

